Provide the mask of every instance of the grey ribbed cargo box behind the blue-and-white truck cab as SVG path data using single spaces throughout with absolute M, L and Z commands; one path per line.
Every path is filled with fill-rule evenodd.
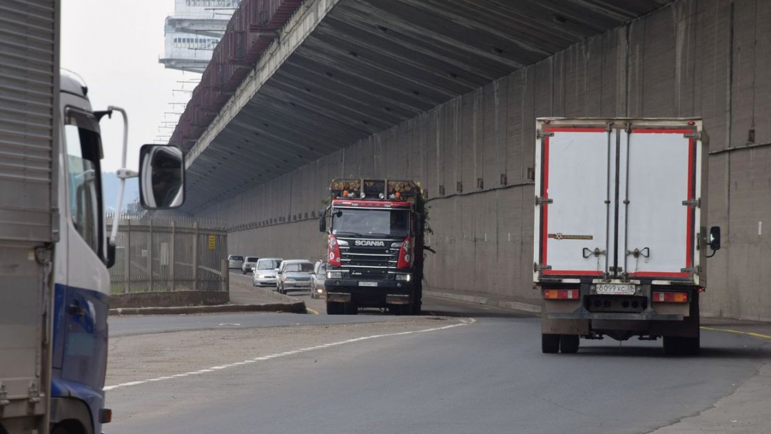
M 59 2 L 0 5 L 0 431 L 48 432 Z

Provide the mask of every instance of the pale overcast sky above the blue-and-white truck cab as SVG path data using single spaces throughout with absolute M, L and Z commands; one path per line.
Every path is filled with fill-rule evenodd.
M 61 2 L 62 68 L 76 72 L 89 88 L 95 110 L 118 106 L 129 119 L 126 167 L 138 168 L 144 143 L 161 143 L 163 121 L 176 121 L 193 83 L 200 74 L 166 69 L 163 56 L 163 22 L 174 10 L 174 0 L 64 0 Z M 120 114 L 103 118 L 103 170 L 121 165 L 123 122 Z M 167 124 L 174 126 L 174 124 Z

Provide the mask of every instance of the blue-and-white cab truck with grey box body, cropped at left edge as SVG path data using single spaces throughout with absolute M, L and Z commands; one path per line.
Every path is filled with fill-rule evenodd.
M 88 88 L 59 70 L 59 0 L 0 5 L 0 434 L 99 433 L 107 359 L 107 268 L 99 119 Z M 116 86 L 120 86 L 116 83 Z M 126 165 L 127 132 L 122 152 Z M 183 154 L 145 145 L 147 209 L 183 203 Z M 178 181 L 178 182 L 175 182 Z M 123 186 L 116 209 L 123 203 Z

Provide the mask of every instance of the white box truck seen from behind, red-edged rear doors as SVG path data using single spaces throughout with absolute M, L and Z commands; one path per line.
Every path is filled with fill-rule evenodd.
M 720 247 L 702 120 L 542 118 L 536 131 L 542 352 L 637 336 L 698 354 L 705 260 Z

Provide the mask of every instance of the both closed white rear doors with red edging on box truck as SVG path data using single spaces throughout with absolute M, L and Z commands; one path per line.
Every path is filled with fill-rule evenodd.
M 535 278 L 689 280 L 701 122 L 539 119 Z

